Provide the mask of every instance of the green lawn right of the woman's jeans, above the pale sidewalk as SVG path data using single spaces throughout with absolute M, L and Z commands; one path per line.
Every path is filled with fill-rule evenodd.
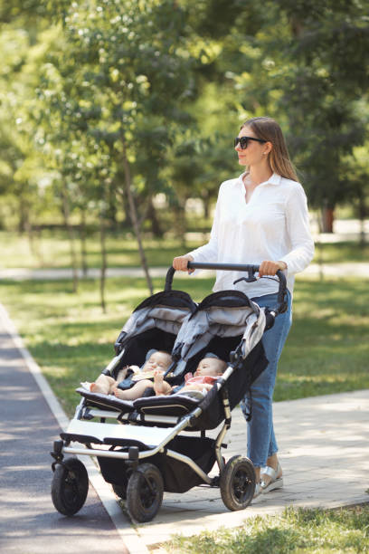
M 275 399 L 368 388 L 368 357 L 368 281 L 299 278 Z

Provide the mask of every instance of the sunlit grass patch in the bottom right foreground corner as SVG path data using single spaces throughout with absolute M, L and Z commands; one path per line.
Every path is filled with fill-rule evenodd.
M 339 554 L 369 552 L 369 505 L 292 510 L 250 519 L 244 527 L 176 536 L 163 545 L 169 554 Z

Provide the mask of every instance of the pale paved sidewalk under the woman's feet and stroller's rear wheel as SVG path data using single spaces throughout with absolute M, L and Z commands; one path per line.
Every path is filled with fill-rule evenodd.
M 150 549 L 171 534 L 193 535 L 237 527 L 256 515 L 276 514 L 286 506 L 335 508 L 369 502 L 369 390 L 274 405 L 284 487 L 258 497 L 244 511 L 228 511 L 218 489 L 165 493 L 156 519 L 137 526 Z M 212 433 L 213 435 L 213 433 Z M 246 454 L 246 425 L 232 411 L 226 459 Z

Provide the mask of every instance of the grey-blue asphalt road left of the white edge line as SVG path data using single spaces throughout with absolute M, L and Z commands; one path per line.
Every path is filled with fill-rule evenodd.
M 1 320 L 0 383 L 1 553 L 126 554 L 91 486 L 75 516 L 55 511 L 50 451 L 61 429 Z

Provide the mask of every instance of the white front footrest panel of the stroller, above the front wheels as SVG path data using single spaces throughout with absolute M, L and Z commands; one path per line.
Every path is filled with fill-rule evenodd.
M 75 436 L 76 440 L 82 443 L 85 441 L 80 441 L 77 437 L 88 436 L 89 442 L 95 444 L 112 444 L 117 440 L 117 444 L 124 444 L 124 439 L 128 439 L 128 442 L 134 440 L 152 448 L 166 439 L 168 432 L 168 429 L 159 427 L 107 424 L 72 419 L 66 434 L 63 435 L 68 437 L 69 440 L 73 440 L 69 437 Z

